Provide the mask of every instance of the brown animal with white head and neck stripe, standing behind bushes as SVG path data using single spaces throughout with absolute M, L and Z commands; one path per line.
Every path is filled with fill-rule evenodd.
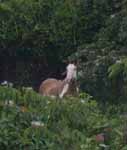
M 69 64 L 66 68 L 67 75 L 64 80 L 48 78 L 44 80 L 39 88 L 39 93 L 43 96 L 60 97 L 64 95 L 73 95 L 78 92 L 76 83 L 77 67 L 74 64 Z

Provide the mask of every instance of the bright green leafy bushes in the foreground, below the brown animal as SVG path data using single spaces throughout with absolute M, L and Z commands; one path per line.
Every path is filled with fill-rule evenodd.
M 116 112 L 103 113 L 85 93 L 60 100 L 0 87 L 0 148 L 122 150 L 126 121 Z

